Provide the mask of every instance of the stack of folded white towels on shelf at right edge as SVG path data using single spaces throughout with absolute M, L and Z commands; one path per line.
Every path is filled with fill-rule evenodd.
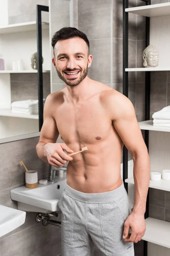
M 153 113 L 153 125 L 170 127 L 170 105 Z

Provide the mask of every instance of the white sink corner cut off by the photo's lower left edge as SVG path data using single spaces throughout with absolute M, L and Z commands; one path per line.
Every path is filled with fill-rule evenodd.
M 0 205 L 0 237 L 20 227 L 26 220 L 26 212 Z

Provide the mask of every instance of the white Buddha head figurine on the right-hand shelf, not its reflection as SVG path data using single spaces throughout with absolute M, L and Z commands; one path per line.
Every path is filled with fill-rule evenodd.
M 157 67 L 159 62 L 158 49 L 153 45 L 149 45 L 143 51 L 143 65 L 144 67 Z

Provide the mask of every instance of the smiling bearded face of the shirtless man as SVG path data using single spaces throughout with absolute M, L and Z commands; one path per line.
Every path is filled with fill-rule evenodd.
M 59 40 L 54 47 L 52 59 L 57 74 L 65 84 L 77 86 L 88 74 L 92 55 L 88 56 L 88 46 L 79 37 Z

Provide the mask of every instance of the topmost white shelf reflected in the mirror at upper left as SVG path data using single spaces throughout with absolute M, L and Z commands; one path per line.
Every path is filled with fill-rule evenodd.
M 33 31 L 37 29 L 36 21 L 10 24 L 7 26 L 0 27 L 0 34 L 9 34 L 16 32 Z M 49 23 L 42 22 L 42 29 L 49 29 Z

